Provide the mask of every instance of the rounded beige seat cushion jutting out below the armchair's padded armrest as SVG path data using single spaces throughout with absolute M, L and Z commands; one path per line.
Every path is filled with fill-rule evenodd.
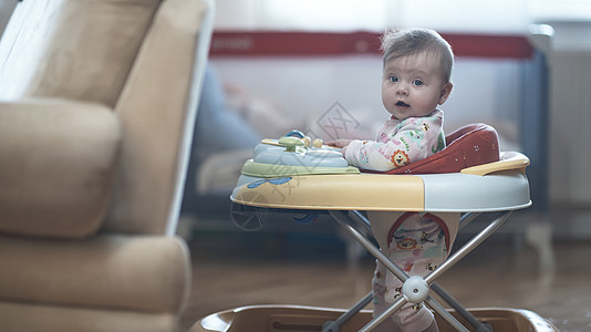
M 55 241 L 0 235 L 0 302 L 178 313 L 189 291 L 189 253 L 177 237 L 98 235 Z M 10 331 L 2 323 L 0 314 L 0 330 Z

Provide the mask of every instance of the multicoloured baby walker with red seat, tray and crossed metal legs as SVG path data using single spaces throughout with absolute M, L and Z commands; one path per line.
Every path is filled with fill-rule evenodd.
M 446 141 L 445 149 L 426 159 L 377 174 L 349 166 L 338 149 L 318 139 L 310 142 L 297 131 L 280 139 L 263 139 L 243 165 L 231 194 L 234 208 L 250 212 L 240 226 L 256 229 L 266 221 L 261 211 L 276 209 L 330 214 L 404 282 L 403 297 L 373 319 L 363 310 L 372 301 L 370 293 L 349 311 L 299 305 L 237 308 L 201 319 L 191 331 L 372 331 L 407 302 L 426 303 L 439 331 L 558 331 L 527 310 L 466 310 L 435 282 L 498 229 L 512 210 L 531 205 L 525 174 L 529 159 L 520 153 L 499 152 L 492 127 L 465 126 Z M 380 251 L 361 211 L 462 212 L 459 225 L 447 225 L 450 229 L 463 228 L 483 212 L 496 217 L 423 278 L 407 276 Z M 432 292 L 453 309 L 446 310 Z

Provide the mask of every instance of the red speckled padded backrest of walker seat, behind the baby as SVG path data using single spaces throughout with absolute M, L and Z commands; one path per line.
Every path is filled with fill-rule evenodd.
M 494 127 L 470 124 L 445 137 L 447 146 L 425 159 L 382 174 L 439 174 L 459 170 L 500 159 L 499 137 Z M 369 172 L 369 170 L 362 170 Z M 369 172 L 376 173 L 376 172 Z

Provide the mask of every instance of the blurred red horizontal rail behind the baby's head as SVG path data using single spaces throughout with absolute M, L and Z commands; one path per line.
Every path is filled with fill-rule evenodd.
M 381 54 L 377 32 L 216 31 L 211 56 L 328 56 Z M 456 56 L 528 59 L 522 35 L 443 34 Z

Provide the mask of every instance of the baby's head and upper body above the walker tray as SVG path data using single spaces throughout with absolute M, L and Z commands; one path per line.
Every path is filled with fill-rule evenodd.
M 385 172 L 423 159 L 445 147 L 443 112 L 452 92 L 454 54 L 435 31 L 396 30 L 383 37 L 382 102 L 391 117 L 376 141 L 339 139 L 353 166 Z

